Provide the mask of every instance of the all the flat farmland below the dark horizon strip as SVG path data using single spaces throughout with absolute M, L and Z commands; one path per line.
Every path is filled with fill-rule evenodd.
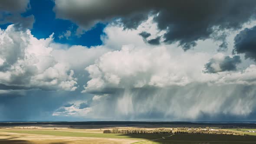
M 8 123 L 0 127 L 0 144 L 256 144 L 255 133 L 246 132 L 252 128 L 210 126 Z

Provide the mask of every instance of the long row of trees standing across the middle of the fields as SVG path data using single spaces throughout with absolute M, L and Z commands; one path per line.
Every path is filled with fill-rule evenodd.
M 128 129 L 128 130 L 119 130 L 118 128 L 113 128 L 111 130 L 104 130 L 103 133 L 112 133 L 112 134 L 171 134 L 171 129 L 159 128 L 153 130 L 146 129 Z

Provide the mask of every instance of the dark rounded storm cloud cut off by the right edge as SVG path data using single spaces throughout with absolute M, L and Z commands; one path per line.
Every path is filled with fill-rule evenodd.
M 233 53 L 244 53 L 245 58 L 256 61 L 256 26 L 244 29 L 234 39 Z

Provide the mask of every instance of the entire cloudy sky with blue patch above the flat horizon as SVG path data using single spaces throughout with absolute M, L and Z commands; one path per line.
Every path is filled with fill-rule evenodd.
M 256 121 L 255 0 L 1 0 L 0 121 Z

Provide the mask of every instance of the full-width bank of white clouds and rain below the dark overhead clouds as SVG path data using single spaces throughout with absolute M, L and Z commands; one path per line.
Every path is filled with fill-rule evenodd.
M 125 30 L 110 23 L 103 45 L 90 48 L 54 43 L 53 36 L 36 39 L 29 30 L 16 27 L 1 30 L 1 116 L 33 119 L 36 113 L 41 118 L 81 121 L 255 119 L 255 62 L 230 56 L 230 46 L 217 53 L 210 39 L 187 52 L 177 49 L 178 43 L 149 45 L 163 34 L 152 20 Z M 142 32 L 150 36 L 143 39 Z M 219 65 L 220 71 L 203 72 L 208 62 Z M 33 92 L 16 94 L 25 90 Z

